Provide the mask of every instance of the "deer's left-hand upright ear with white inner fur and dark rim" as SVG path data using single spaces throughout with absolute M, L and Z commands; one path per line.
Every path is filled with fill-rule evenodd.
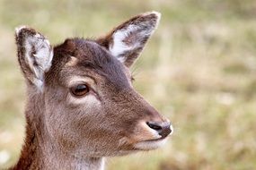
M 49 40 L 36 30 L 16 28 L 18 59 L 25 78 L 38 89 L 42 89 L 44 74 L 49 71 L 53 49 Z

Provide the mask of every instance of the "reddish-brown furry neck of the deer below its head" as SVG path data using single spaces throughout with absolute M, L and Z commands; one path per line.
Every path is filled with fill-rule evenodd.
M 30 96 L 30 95 L 29 95 Z M 50 141 L 49 132 L 43 125 L 44 98 L 30 96 L 26 106 L 26 134 L 21 157 L 12 169 L 75 169 L 103 170 L 103 157 L 75 157 L 63 152 Z

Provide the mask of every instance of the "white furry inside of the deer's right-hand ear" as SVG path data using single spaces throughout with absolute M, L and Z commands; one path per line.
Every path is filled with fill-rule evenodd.
M 109 48 L 111 55 L 116 56 L 121 63 L 125 63 L 128 57 L 126 53 L 130 54 L 137 50 L 137 53 L 140 53 L 147 38 L 157 28 L 160 19 L 161 13 L 143 13 L 138 15 L 135 21 L 125 22 L 124 27 L 114 30 L 113 42 Z

